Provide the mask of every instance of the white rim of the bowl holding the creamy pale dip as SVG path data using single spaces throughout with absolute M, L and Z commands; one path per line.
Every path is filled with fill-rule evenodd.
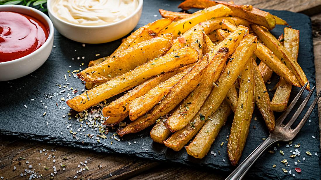
M 62 20 L 58 16 L 56 16 L 56 14 L 51 9 L 52 8 L 51 4 L 52 4 L 53 1 L 56 1 L 56 0 L 47 0 L 48 14 L 52 15 L 55 19 L 65 23 L 65 24 L 67 24 L 69 26 L 78 27 L 78 28 L 89 28 L 89 29 L 106 28 L 106 27 L 110 27 L 110 26 L 114 26 L 114 25 L 120 24 L 120 23 L 122 23 L 122 22 L 124 22 L 126 20 L 129 20 L 132 17 L 134 17 L 143 7 L 143 0 L 137 0 L 138 1 L 138 6 L 137 6 L 136 10 L 131 15 L 127 16 L 126 18 L 124 18 L 122 20 L 119 20 L 117 22 L 110 23 L 110 24 L 96 25 L 96 26 L 86 26 L 86 25 L 73 24 L 73 23 L 67 22 L 65 20 Z

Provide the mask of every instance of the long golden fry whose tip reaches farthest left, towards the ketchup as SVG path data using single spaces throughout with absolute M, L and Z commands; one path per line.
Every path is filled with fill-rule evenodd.
M 90 108 L 116 94 L 137 86 L 149 78 L 193 64 L 198 60 L 198 53 L 191 47 L 181 48 L 173 53 L 148 61 L 134 70 L 107 81 L 79 96 L 67 101 L 69 107 L 76 111 Z

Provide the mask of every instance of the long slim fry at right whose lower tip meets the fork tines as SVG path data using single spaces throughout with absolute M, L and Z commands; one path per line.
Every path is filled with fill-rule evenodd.
M 294 57 L 292 57 L 289 51 L 286 50 L 284 46 L 281 45 L 280 42 L 268 30 L 256 24 L 252 24 L 251 28 L 253 29 L 255 34 L 262 40 L 262 42 L 264 42 L 264 44 L 268 48 L 270 48 L 273 53 L 292 71 L 295 77 L 299 80 L 301 86 L 304 86 L 306 83 L 308 83 L 308 79 L 298 62 L 295 61 Z M 310 90 L 309 84 L 306 89 Z

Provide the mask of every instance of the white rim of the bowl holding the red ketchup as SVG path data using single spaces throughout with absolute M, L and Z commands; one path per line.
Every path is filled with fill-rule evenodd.
M 49 35 L 48 35 L 48 38 L 47 40 L 45 41 L 45 43 L 43 45 L 41 45 L 38 49 L 36 49 L 36 51 L 26 55 L 26 56 L 23 56 L 21 58 L 18 58 L 18 59 L 14 59 L 14 60 L 11 60 L 11 61 L 6 61 L 6 62 L 0 62 L 0 65 L 5 65 L 5 64 L 12 64 L 12 63 L 15 63 L 15 62 L 18 62 L 18 61 L 23 61 L 25 59 L 28 59 L 30 58 L 31 56 L 33 56 L 36 52 L 39 52 L 39 51 L 42 51 L 44 48 L 46 48 L 46 46 L 50 43 L 50 41 L 53 39 L 54 37 L 54 25 L 52 24 L 50 18 L 43 12 L 39 11 L 38 9 L 35 9 L 35 8 L 32 8 L 32 7 L 29 7 L 29 6 L 24 6 L 24 5 L 17 5 L 17 4 L 7 4 L 7 5 L 1 5 L 0 6 L 0 9 L 5 9 L 5 8 L 8 8 L 8 10 L 4 10 L 4 11 L 10 11 L 10 12 L 16 12 L 14 10 L 11 10 L 9 8 L 12 8 L 12 7 L 15 7 L 15 8 L 20 8 L 20 9 L 27 9 L 27 10 L 30 10 L 31 12 L 35 12 L 37 14 L 39 14 L 44 20 L 46 20 L 46 22 L 48 23 L 48 28 L 49 28 Z M 20 12 L 18 12 L 20 13 Z M 30 15 L 31 17 L 32 14 L 31 13 L 25 13 L 26 15 Z M 41 22 L 41 20 L 40 20 Z

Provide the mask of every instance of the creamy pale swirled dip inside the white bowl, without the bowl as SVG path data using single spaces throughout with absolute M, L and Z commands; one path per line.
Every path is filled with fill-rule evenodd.
M 56 0 L 52 10 L 62 20 L 99 26 L 122 20 L 136 10 L 137 0 Z

